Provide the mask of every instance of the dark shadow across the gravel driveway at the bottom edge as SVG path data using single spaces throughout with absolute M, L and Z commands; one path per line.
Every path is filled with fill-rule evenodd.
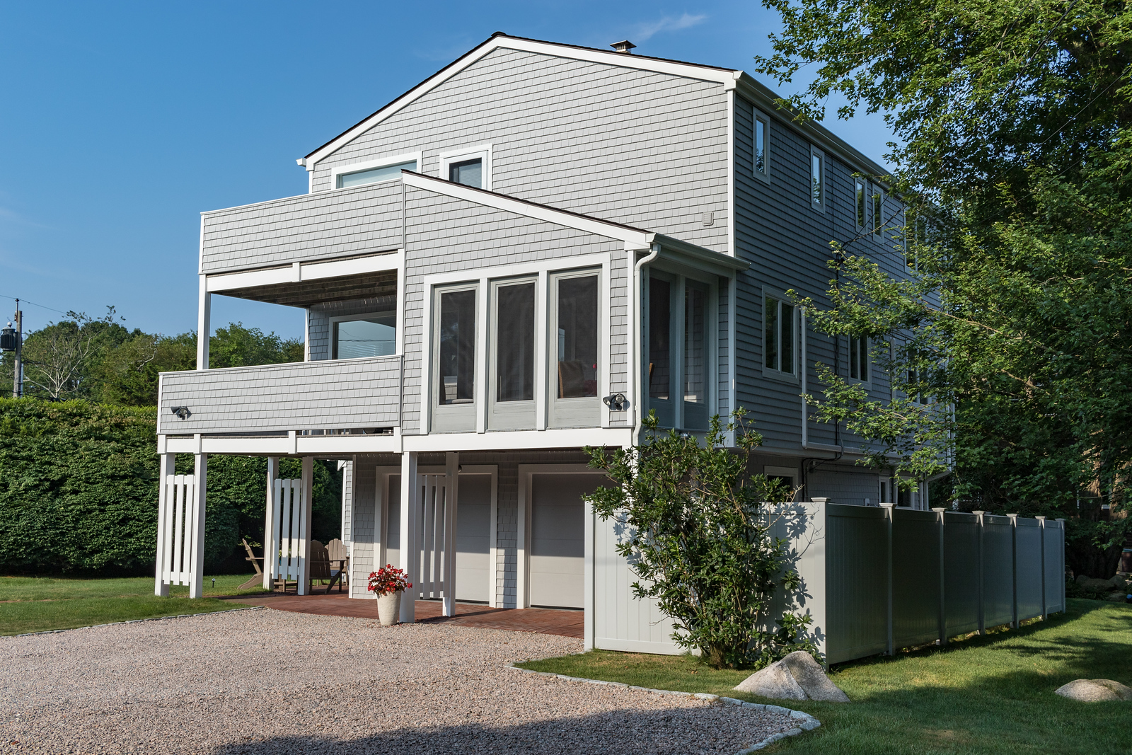
M 565 683 L 564 683 L 565 684 Z M 465 701 L 465 709 L 475 709 L 474 701 Z M 754 741 L 777 730 L 736 732 L 736 722 L 753 720 L 753 711 L 727 706 L 719 711 L 696 707 L 677 707 L 661 711 L 619 710 L 594 715 L 572 717 L 539 721 L 521 726 L 491 727 L 469 722 L 448 727 L 408 727 L 403 715 L 387 715 L 385 723 L 401 726 L 392 731 L 340 739 L 334 736 L 308 735 L 303 737 L 269 737 L 260 740 L 233 743 L 212 750 L 214 755 L 266 755 L 267 753 L 418 753 L 480 754 L 480 753 L 735 753 L 746 749 Z M 722 713 L 722 714 L 721 714 Z M 380 717 L 379 717 L 380 718 Z M 777 717 L 774 717 L 777 718 Z

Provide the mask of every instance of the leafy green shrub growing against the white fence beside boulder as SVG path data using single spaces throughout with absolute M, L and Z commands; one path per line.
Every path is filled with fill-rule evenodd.
M 743 411 L 736 412 L 735 430 Z M 809 617 L 772 616 L 771 598 L 781 584 L 798 587 L 798 574 L 782 574 L 784 542 L 771 537 L 763 501 L 790 497 L 781 482 L 747 475 L 747 457 L 762 443 L 754 431 L 739 435 L 739 449 L 723 447 L 723 427 L 712 418 L 705 445 L 675 430 L 658 434 L 649 413 L 645 440 L 612 454 L 588 448 L 590 466 L 614 486 L 590 501 L 602 520 L 621 529 L 617 552 L 641 577 L 637 598 L 657 601 L 672 619 L 672 640 L 698 649 L 715 667 L 764 666 L 789 652 L 816 646 L 799 638 Z M 766 626 L 778 621 L 778 630 Z

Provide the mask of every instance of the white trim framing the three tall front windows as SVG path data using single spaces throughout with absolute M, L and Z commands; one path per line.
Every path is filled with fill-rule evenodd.
M 582 255 L 578 257 L 556 257 L 551 259 L 543 259 L 534 263 L 522 263 L 517 265 L 500 265 L 499 267 L 484 267 L 478 268 L 475 271 L 454 271 L 451 273 L 438 273 L 436 275 L 424 276 L 422 284 L 424 289 L 424 300 L 429 302 L 435 302 L 436 289 L 438 286 L 445 286 L 449 284 L 466 283 L 469 286 L 474 286 L 479 292 L 479 303 L 477 304 L 477 317 L 481 319 L 482 324 L 477 325 L 475 329 L 475 343 L 477 343 L 477 364 L 475 364 L 475 379 L 477 384 L 477 429 L 475 432 L 487 432 L 487 383 L 484 379 L 487 377 L 487 358 L 488 358 L 488 331 L 490 328 L 490 323 L 487 319 L 490 317 L 490 310 L 488 308 L 487 294 L 484 292 L 489 291 L 489 284 L 494 280 L 498 278 L 509 278 L 509 277 L 522 277 L 522 276 L 538 276 L 538 290 L 535 297 L 535 332 L 534 332 L 534 429 L 547 430 L 547 415 L 550 402 L 550 376 L 548 374 L 548 363 L 550 358 L 550 352 L 548 351 L 548 308 L 549 308 L 549 285 L 550 285 L 550 274 L 560 273 L 573 269 L 581 268 L 598 268 L 601 271 L 600 282 L 599 282 L 599 299 L 598 299 L 598 348 L 600 350 L 599 354 L 603 358 L 601 363 L 600 376 L 598 378 L 598 392 L 599 401 L 601 396 L 609 395 L 610 386 L 610 337 L 609 337 L 609 302 L 610 302 L 610 291 L 611 285 L 610 273 L 612 271 L 612 256 L 609 254 L 597 254 L 597 255 Z M 435 340 L 434 333 L 434 310 L 436 304 L 432 303 L 424 308 L 424 328 L 423 338 L 421 343 L 422 359 L 421 359 L 421 385 L 431 386 L 432 385 L 432 363 L 435 361 L 434 350 Z M 432 392 L 431 388 L 428 391 L 422 389 L 420 395 L 420 427 L 421 432 L 428 435 L 431 432 L 432 422 Z M 609 407 L 601 403 L 601 422 L 599 427 L 609 427 Z M 589 429 L 592 431 L 592 429 Z M 520 430 L 518 432 L 530 432 L 530 430 Z M 490 447 L 490 446 L 489 446 Z

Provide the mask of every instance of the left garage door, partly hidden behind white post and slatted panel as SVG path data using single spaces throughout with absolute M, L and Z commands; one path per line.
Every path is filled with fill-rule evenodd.
M 401 475 L 389 475 L 386 560 L 401 565 Z M 488 560 L 491 537 L 491 475 L 460 475 L 456 515 L 456 600 L 489 600 Z M 412 581 L 412 577 L 410 577 Z

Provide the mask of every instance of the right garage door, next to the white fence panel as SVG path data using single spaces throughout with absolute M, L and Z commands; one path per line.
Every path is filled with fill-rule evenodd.
M 531 606 L 583 608 L 585 505 L 602 474 L 531 475 Z

